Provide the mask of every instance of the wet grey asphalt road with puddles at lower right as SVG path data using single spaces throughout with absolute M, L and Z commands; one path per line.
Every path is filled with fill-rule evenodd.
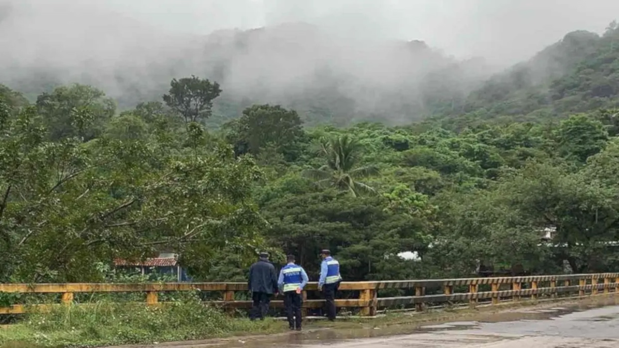
M 542 307 L 543 308 L 543 307 Z M 480 321 L 417 328 L 327 329 L 241 341 L 184 342 L 161 348 L 619 348 L 619 297 L 571 307 L 521 308 Z

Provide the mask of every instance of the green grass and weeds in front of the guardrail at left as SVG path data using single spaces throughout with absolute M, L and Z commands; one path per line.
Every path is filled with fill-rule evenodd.
M 284 331 L 275 320 L 231 318 L 218 308 L 187 297 L 165 306 L 97 302 L 89 306 L 58 307 L 33 313 L 0 329 L 0 347 L 93 347 L 186 341 L 241 334 Z

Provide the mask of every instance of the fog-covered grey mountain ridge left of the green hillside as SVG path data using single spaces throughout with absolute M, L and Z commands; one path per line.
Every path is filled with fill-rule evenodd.
M 307 23 L 172 36 L 111 12 L 50 15 L 12 3 L 0 23 L 0 42 L 11 48 L 0 57 L 0 82 L 30 100 L 79 82 L 132 108 L 160 100 L 171 79 L 194 74 L 222 85 L 214 124 L 253 103 L 297 108 L 309 124 L 403 124 L 444 100 L 463 100 L 488 76 L 483 61 L 459 62 L 422 41 L 345 38 Z

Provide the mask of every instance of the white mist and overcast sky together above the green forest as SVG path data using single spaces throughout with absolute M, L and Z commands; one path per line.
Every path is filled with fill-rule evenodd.
M 612 0 L 0 0 L 0 83 L 89 83 L 130 106 L 195 74 L 228 100 L 336 94 L 403 122 L 428 83 L 465 95 L 614 14 Z

